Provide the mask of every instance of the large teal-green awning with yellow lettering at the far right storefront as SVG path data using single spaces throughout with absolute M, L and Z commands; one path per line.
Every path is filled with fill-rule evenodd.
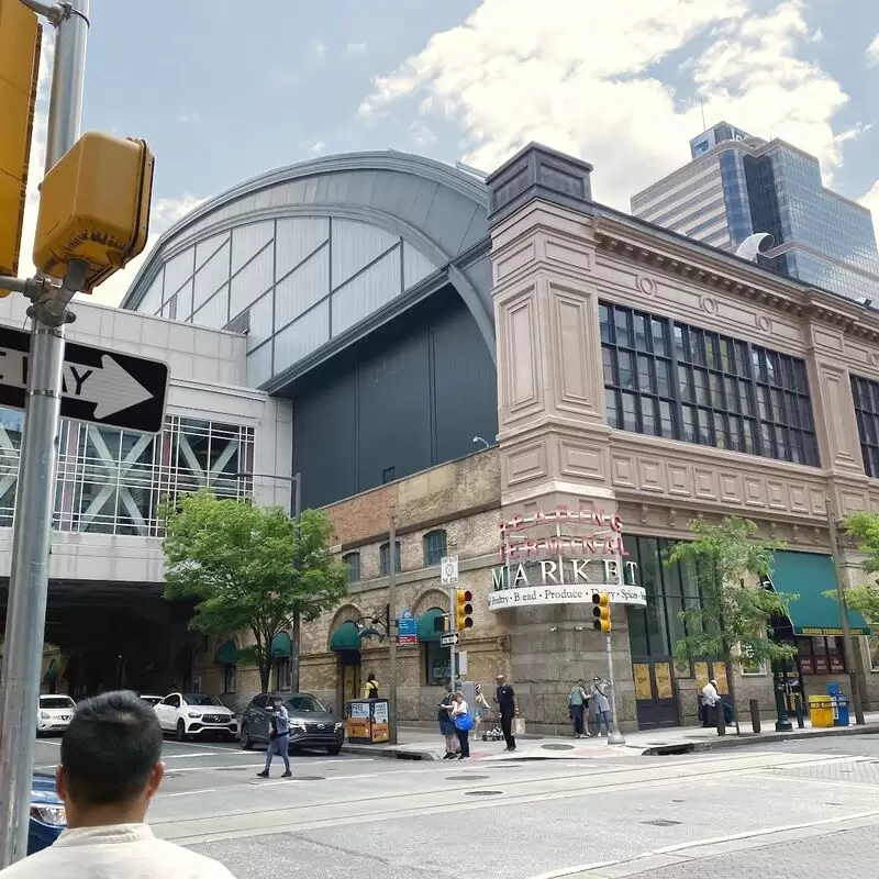
M 799 596 L 788 605 L 794 635 L 843 634 L 839 602 L 824 594 L 827 590 L 836 589 L 831 556 L 778 552 L 775 554 L 771 580 L 777 592 Z M 853 635 L 870 634 L 867 621 L 857 611 L 848 611 L 848 625 Z

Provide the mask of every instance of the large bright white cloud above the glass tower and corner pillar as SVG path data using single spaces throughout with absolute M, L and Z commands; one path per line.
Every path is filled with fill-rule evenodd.
M 414 97 L 424 120 L 467 133 L 465 160 L 493 169 L 528 141 L 596 166 L 597 198 L 632 193 L 689 159 L 688 142 L 721 119 L 780 136 L 824 163 L 842 159 L 832 120 L 847 96 L 799 56 L 817 37 L 801 0 L 757 12 L 757 0 L 482 0 L 460 26 L 376 80 L 361 115 Z M 760 3 L 760 7 L 764 4 Z M 677 57 L 678 91 L 650 69 Z M 854 135 L 853 135 L 854 136 Z

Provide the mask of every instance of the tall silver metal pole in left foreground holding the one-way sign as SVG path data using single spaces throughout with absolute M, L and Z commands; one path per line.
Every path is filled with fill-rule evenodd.
M 30 3 L 25 3 L 30 5 Z M 55 25 L 55 62 L 46 135 L 46 170 L 79 138 L 86 76 L 89 0 L 46 9 Z M 15 490 L 5 647 L 0 678 L 0 868 L 27 854 L 40 671 L 46 625 L 48 555 L 55 509 L 67 305 L 88 267 L 67 267 L 62 288 L 43 292 L 32 320 L 24 432 Z

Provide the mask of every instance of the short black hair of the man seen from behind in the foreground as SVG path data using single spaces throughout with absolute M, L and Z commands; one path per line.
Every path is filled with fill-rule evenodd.
M 86 805 L 135 799 L 162 757 L 162 727 L 133 692 L 101 693 L 77 705 L 62 738 L 70 799 Z

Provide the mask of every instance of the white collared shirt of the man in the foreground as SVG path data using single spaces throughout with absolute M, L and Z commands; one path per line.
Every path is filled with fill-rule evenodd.
M 54 845 L 4 870 L 2 879 L 235 879 L 221 864 L 165 839 L 146 824 L 65 831 Z

